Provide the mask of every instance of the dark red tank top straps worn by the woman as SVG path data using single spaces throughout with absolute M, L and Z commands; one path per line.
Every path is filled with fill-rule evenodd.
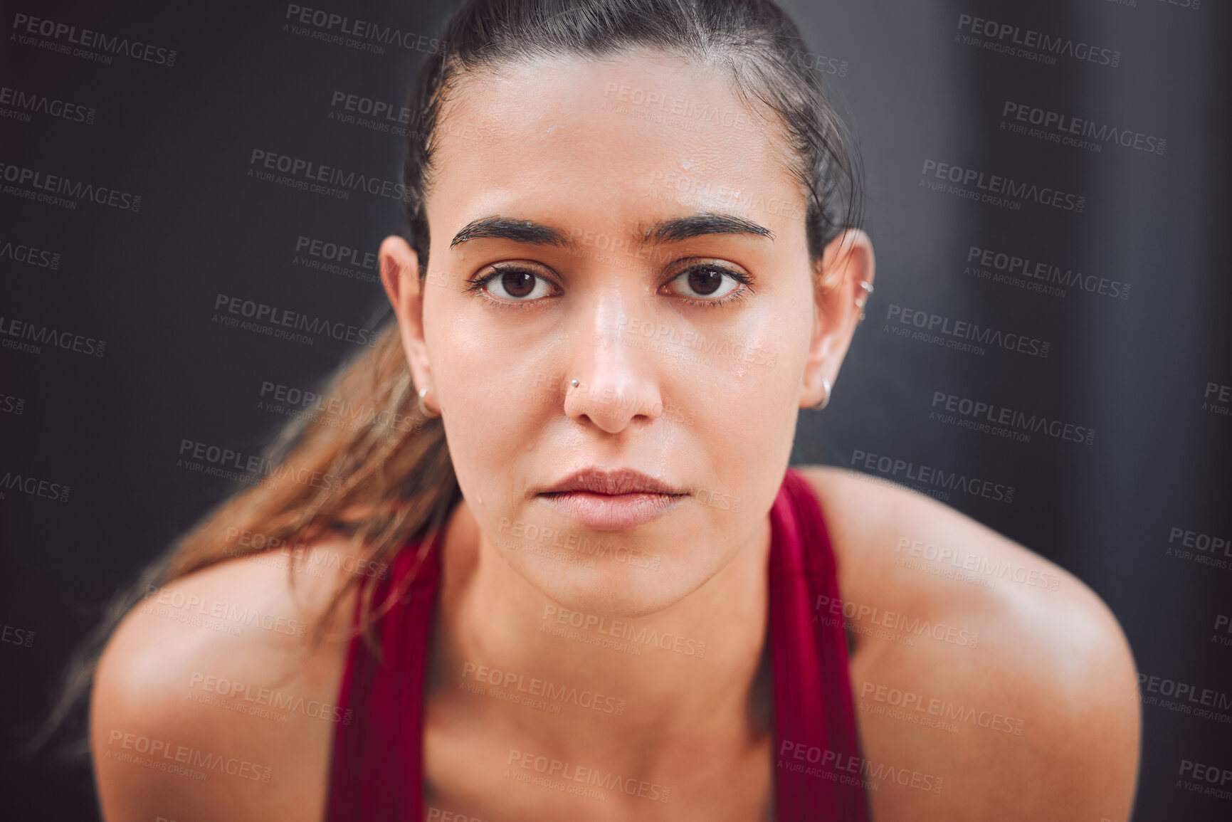
M 784 476 L 770 525 L 775 817 L 866 822 L 843 620 L 818 610 L 819 603 L 838 600 L 834 553 L 821 505 L 800 472 L 788 468 Z M 408 546 L 386 579 L 373 578 L 373 601 L 381 603 L 414 573 L 407 594 L 375 624 L 384 664 L 361 637 L 351 641 L 338 706 L 354 715 L 336 726 L 326 822 L 423 820 L 423 685 L 441 571 L 439 536 L 418 571 L 418 546 Z

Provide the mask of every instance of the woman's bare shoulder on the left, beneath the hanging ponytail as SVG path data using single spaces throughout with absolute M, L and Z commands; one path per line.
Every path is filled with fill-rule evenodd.
M 340 541 L 228 560 L 152 590 L 95 672 L 90 747 L 108 822 L 322 818 L 352 595 Z M 350 567 L 352 571 L 346 571 Z

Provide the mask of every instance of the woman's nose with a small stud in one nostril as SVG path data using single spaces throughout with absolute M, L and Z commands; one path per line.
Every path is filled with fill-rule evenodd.
M 568 343 L 564 413 L 607 434 L 648 425 L 663 414 L 657 362 L 662 355 L 625 344 L 642 343 L 621 333 L 628 320 L 625 308 L 618 295 L 596 295 L 575 317 Z

